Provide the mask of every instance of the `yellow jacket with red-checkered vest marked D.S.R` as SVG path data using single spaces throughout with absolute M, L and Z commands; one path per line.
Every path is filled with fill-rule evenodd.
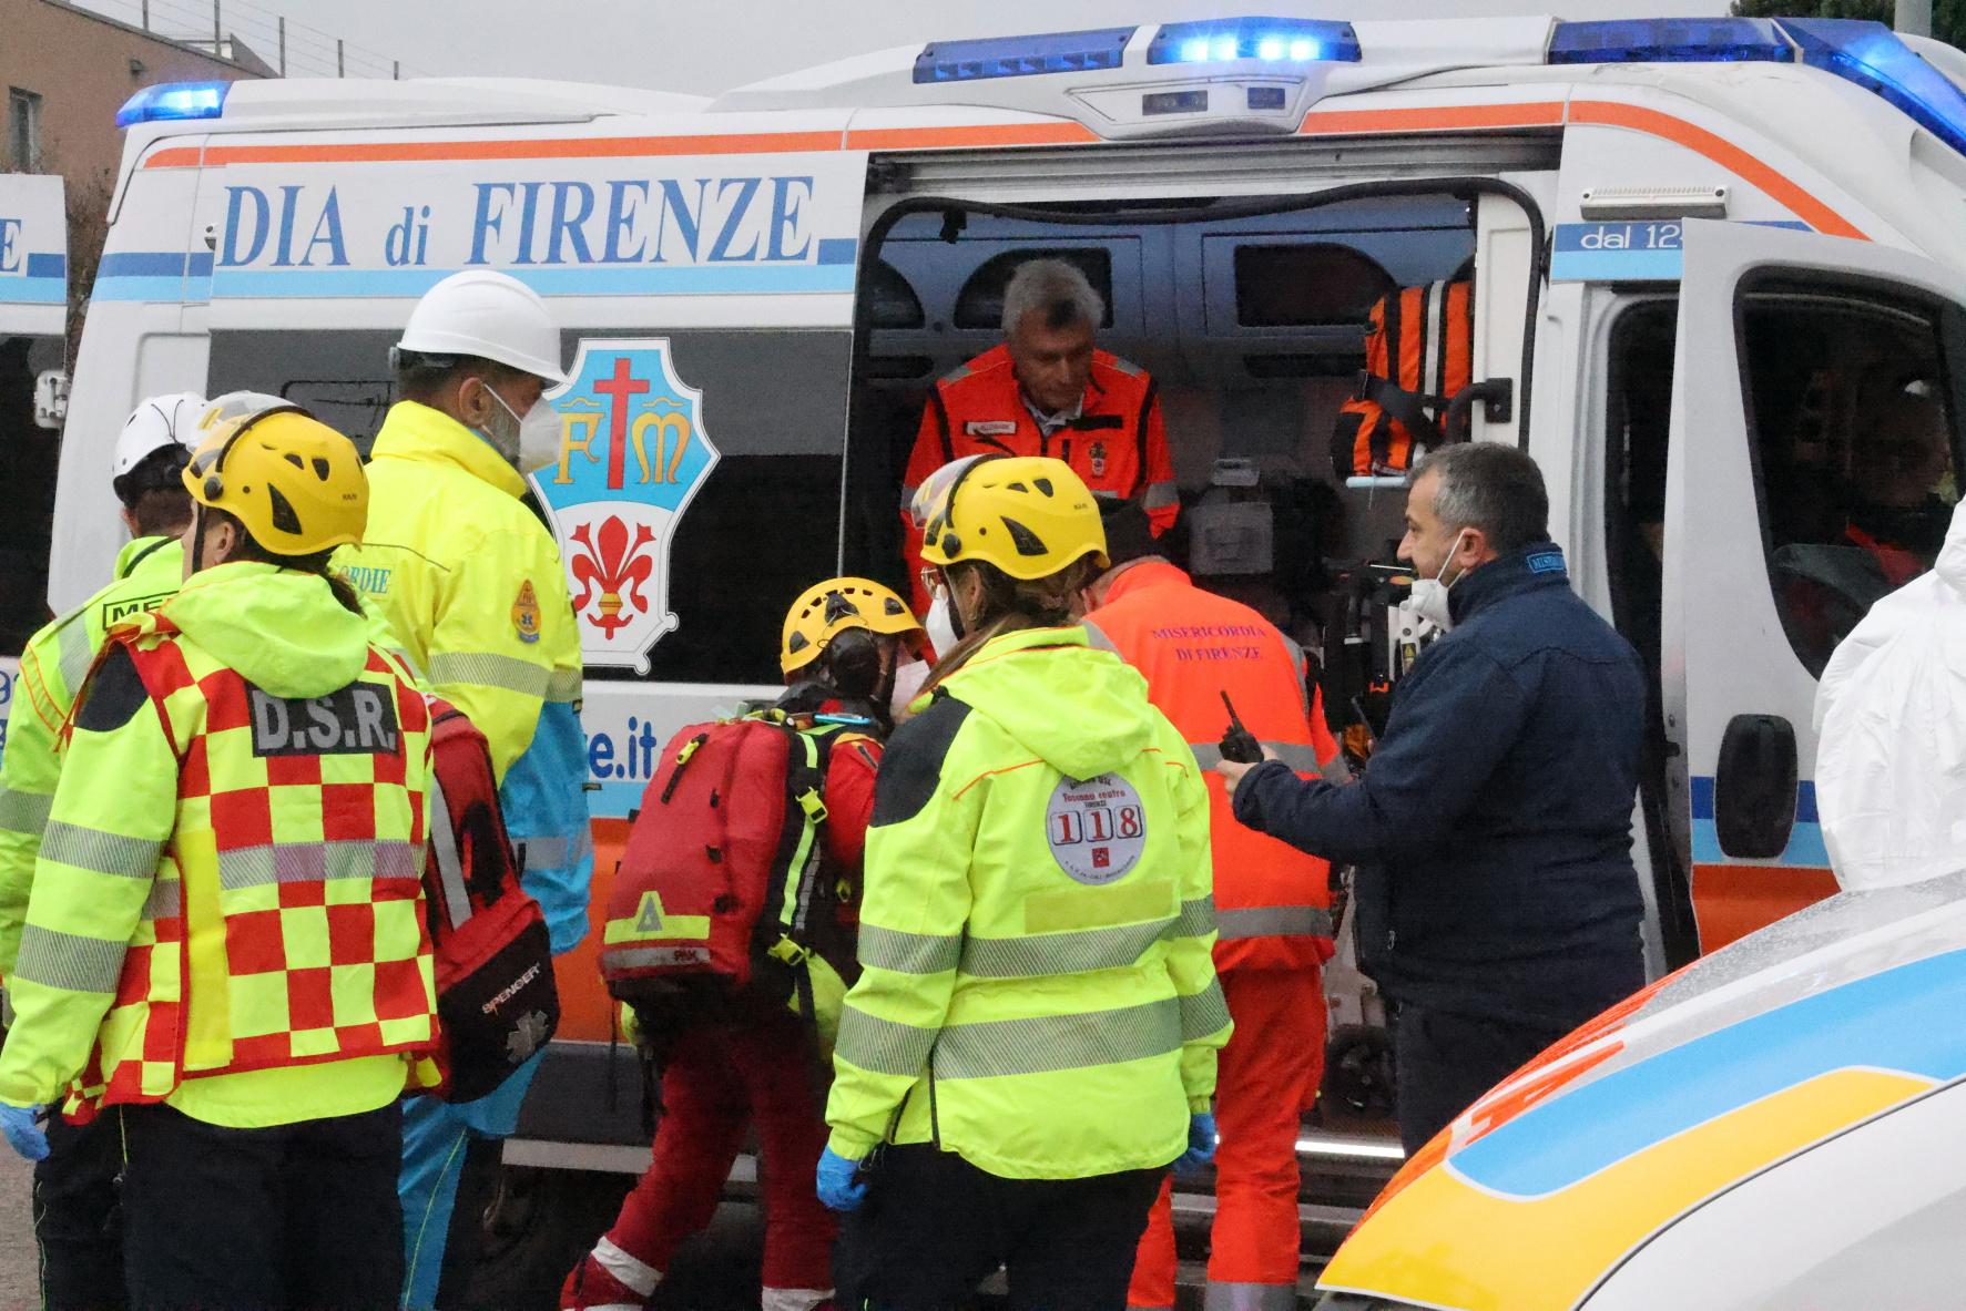
M 434 1036 L 429 710 L 324 580 L 204 570 L 112 631 L 63 749 L 0 1101 L 254 1128 L 401 1095 Z

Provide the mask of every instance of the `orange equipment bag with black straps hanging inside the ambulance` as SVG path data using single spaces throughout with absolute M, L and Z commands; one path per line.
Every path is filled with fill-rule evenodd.
M 1331 466 L 1339 478 L 1406 474 L 1427 450 L 1467 436 L 1445 427 L 1455 397 L 1473 381 L 1473 279 L 1382 297 L 1372 307 L 1359 391 L 1331 432 Z M 1459 419 L 1453 427 L 1467 423 L 1465 413 Z

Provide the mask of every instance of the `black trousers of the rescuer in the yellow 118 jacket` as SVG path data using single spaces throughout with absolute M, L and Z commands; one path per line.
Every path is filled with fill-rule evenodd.
M 839 1234 L 839 1305 L 950 1311 L 1005 1266 L 1011 1311 L 1125 1311 L 1166 1173 L 1001 1179 L 928 1144 L 889 1148 Z

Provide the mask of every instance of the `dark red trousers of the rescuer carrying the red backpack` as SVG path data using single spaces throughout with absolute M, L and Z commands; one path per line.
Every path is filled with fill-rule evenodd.
M 765 1287 L 830 1289 L 838 1225 L 812 1191 L 826 1150 L 826 1103 L 810 1024 L 784 1014 L 682 1034 L 663 1069 L 655 1160 L 621 1205 L 609 1242 L 666 1270 L 676 1246 L 710 1225 L 757 1124 L 765 1201 Z

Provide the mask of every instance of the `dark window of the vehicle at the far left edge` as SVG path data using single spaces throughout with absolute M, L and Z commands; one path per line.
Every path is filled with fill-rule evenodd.
M 0 336 L 0 655 L 18 656 L 47 623 L 59 434 L 33 423 L 33 379 L 61 368 L 61 338 Z

